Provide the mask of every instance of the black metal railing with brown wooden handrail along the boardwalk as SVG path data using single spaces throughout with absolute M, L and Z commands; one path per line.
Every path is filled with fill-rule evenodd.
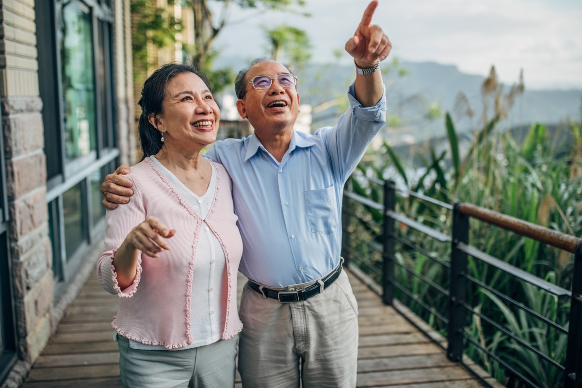
M 544 382 L 532 378 L 531 373 L 524 373 L 523 365 L 496 354 L 494 346 L 485 343 L 482 337 L 471 335 L 468 330 L 475 325 L 471 326 L 470 322 L 479 322 L 477 326 L 482 332 L 497 333 L 496 346 L 506 341 L 509 344 L 506 348 L 524 355 L 530 362 L 539 363 L 544 373 L 560 376 L 557 378 L 559 385 L 582 388 L 582 239 L 476 205 L 450 205 L 423 194 L 396 190 L 392 181 L 363 176 L 356 179 L 365 180 L 368 190 L 344 192 L 342 254 L 347 263 L 359 265 L 363 272 L 381 283 L 385 304 L 392 304 L 398 294 L 416 305 L 421 316 L 429 316 L 433 326 L 446 336 L 446 354 L 452 361 L 463 362 L 463 354 L 471 348 L 473 353 L 480 353 L 482 359 L 501 366 L 506 379 L 512 379 L 513 383 L 544 386 Z M 452 217 L 452 223 L 427 225 L 430 223 L 397 212 L 398 195 L 400 204 L 422 204 L 443 219 Z M 480 224 L 476 225 L 478 222 Z M 436 224 L 447 225 L 448 230 L 437 230 Z M 574 254 L 572 291 L 488 254 L 487 248 L 482 250 L 475 247 L 478 244 L 471 245 L 471 232 L 475 234 L 477 227 L 491 226 Z M 403 259 L 403 252 L 409 257 L 421 257 L 435 267 L 431 273 L 423 273 L 413 260 Z M 483 272 L 488 276 L 475 273 L 479 266 L 485 268 Z M 434 276 L 435 273 L 442 276 Z M 500 276 L 511 278 L 515 285 L 513 292 L 503 293 L 495 288 L 492 279 Z M 411 280 L 399 282 L 398 277 Z M 552 311 L 554 318 L 559 319 L 551 319 L 531 306 L 531 298 L 528 301 L 525 297 L 526 291 L 555 302 Z M 489 303 L 485 311 L 484 305 L 475 302 L 476 294 L 487 295 L 488 300 L 495 303 Z M 505 318 L 496 321 L 492 316 Z M 513 322 L 512 317 L 517 322 Z M 519 326 L 524 322 L 534 323 L 524 329 Z M 550 341 L 551 346 L 531 343 L 534 341 L 529 339 L 541 333 L 555 339 Z M 566 350 L 560 355 L 564 347 Z

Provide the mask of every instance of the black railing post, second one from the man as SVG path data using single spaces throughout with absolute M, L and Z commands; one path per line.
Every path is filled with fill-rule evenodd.
M 382 301 L 392 305 L 394 298 L 394 220 L 389 212 L 396 208 L 396 188 L 394 181 L 384 181 L 384 223 L 383 236 L 384 249 L 382 251 Z

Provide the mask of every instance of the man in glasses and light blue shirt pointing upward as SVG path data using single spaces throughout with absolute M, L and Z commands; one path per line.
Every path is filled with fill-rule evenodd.
M 357 304 L 339 257 L 340 210 L 343 185 L 385 122 L 378 66 L 391 43 L 371 24 L 377 5 L 368 5 L 346 43 L 356 80 L 335 127 L 313 136 L 294 131 L 296 78 L 281 63 L 258 59 L 235 81 L 237 109 L 254 134 L 219 141 L 207 154 L 232 177 L 244 245 L 239 269 L 250 279 L 239 311 L 246 388 L 356 385 Z M 120 176 L 128 171 L 121 166 L 105 179 L 105 207 L 133 194 Z

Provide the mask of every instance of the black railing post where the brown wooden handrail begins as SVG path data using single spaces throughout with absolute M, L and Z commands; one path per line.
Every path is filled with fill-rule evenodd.
M 460 361 L 463 357 L 465 326 L 465 308 L 463 302 L 467 297 L 467 254 L 459 250 L 459 244 L 469 243 L 469 216 L 460 212 L 460 203 L 453 208 L 452 249 L 450 252 L 449 284 L 449 347 L 446 351 L 451 361 Z

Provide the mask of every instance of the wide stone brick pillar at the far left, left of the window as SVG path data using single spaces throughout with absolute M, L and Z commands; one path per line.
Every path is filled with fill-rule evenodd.
M 2 0 L 1 5 L 0 98 L 9 254 L 19 358 L 32 363 L 52 333 L 54 296 L 34 0 Z

